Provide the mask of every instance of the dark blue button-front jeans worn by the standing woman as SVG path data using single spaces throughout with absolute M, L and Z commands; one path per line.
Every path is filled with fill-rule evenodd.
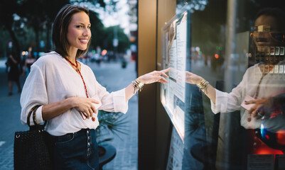
M 99 169 L 98 145 L 95 130 L 82 129 L 54 137 L 55 169 Z

